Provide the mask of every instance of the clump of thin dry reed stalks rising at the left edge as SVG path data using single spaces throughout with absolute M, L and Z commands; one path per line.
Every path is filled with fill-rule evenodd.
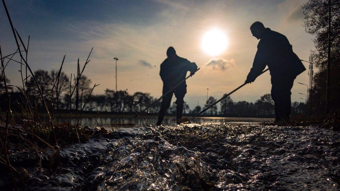
M 23 131 L 22 129 L 19 129 L 19 128 L 16 127 L 16 124 L 15 124 L 15 121 L 14 121 L 14 116 L 13 116 L 13 115 L 10 115 L 10 111 L 11 111 L 10 103 L 11 103 L 11 102 L 9 101 L 9 102 L 8 102 L 7 116 L 6 116 L 6 125 L 5 125 L 5 127 L 4 127 L 5 131 L 4 131 L 4 132 L 0 131 L 0 132 L 2 132 L 2 133 L 5 133 L 4 145 L 2 144 L 3 142 L 2 142 L 1 139 L 0 139 L 0 142 L 1 142 L 1 145 L 2 145 L 3 150 L 5 151 L 4 154 L 5 154 L 5 158 L 6 158 L 6 159 L 2 159 L 2 158 L 0 157 L 0 159 L 4 161 L 4 162 L 1 162 L 1 161 L 0 161 L 0 162 L 3 163 L 3 164 L 6 164 L 6 165 L 8 166 L 8 168 L 9 168 L 9 170 L 10 170 L 10 172 L 11 172 L 11 176 L 12 176 L 12 178 L 13 178 L 13 183 L 16 184 L 15 178 L 14 178 L 14 176 L 13 176 L 12 169 L 13 169 L 15 172 L 18 172 L 18 171 L 17 171 L 14 167 L 11 166 L 10 161 L 9 161 L 9 159 L 8 159 L 8 156 L 7 156 L 7 152 L 6 152 L 6 151 L 7 151 L 7 142 L 8 142 L 8 140 L 7 140 L 7 135 L 16 136 L 16 137 L 18 137 L 18 138 L 24 140 L 25 142 L 27 142 L 29 145 L 34 146 L 34 147 L 35 147 L 37 150 L 39 150 L 40 152 L 43 152 L 43 153 L 49 155 L 48 153 L 46 153 L 45 150 L 43 150 L 43 149 L 41 149 L 39 146 L 35 145 L 32 141 L 28 140 L 27 138 L 22 137 L 22 134 L 25 133 L 25 134 L 31 135 L 31 136 L 34 137 L 35 139 L 38 139 L 38 140 L 40 140 L 41 142 L 43 142 L 44 144 L 46 144 L 48 147 L 50 147 L 50 148 L 52 149 L 52 155 L 49 155 L 50 158 L 51 158 L 50 167 L 52 167 L 52 165 L 54 164 L 54 161 L 55 161 L 55 159 L 56 159 L 57 157 L 59 158 L 58 161 L 59 161 L 59 166 L 60 166 L 60 147 L 58 146 L 58 142 L 57 142 L 57 138 L 56 138 L 56 129 L 55 129 L 55 126 L 54 126 L 54 121 L 53 121 L 53 119 L 54 119 L 53 113 L 54 113 L 54 112 L 52 113 L 52 117 L 51 117 L 50 112 L 49 112 L 49 109 L 48 109 L 48 106 L 47 106 L 46 101 L 45 101 L 45 99 L 44 99 L 43 92 L 41 91 L 41 88 L 40 88 L 40 86 L 39 86 L 39 84 L 38 84 L 38 82 L 37 82 L 37 80 L 36 80 L 36 77 L 34 76 L 34 73 L 32 72 L 32 70 L 31 70 L 31 68 L 30 68 L 30 66 L 29 66 L 29 64 L 28 64 L 28 62 L 27 62 L 27 61 L 28 61 L 28 48 L 29 48 L 30 36 L 29 36 L 29 38 L 28 38 L 28 44 L 27 44 L 27 48 L 26 48 L 26 46 L 24 45 L 24 43 L 23 43 L 23 41 L 22 41 L 22 39 L 21 39 L 21 37 L 20 37 L 18 31 L 17 31 L 16 29 L 14 29 L 14 27 L 13 27 L 13 23 L 12 23 L 12 21 L 11 21 L 10 15 L 9 15 L 9 13 L 8 13 L 8 10 L 7 10 L 5 1 L 2 0 L 2 3 L 3 3 L 3 5 L 4 5 L 4 8 L 5 8 L 5 11 L 6 11 L 8 20 L 9 20 L 9 22 L 10 22 L 10 25 L 11 25 L 11 28 L 12 28 L 12 32 L 13 32 L 13 35 L 14 35 L 14 37 L 15 37 L 15 41 L 16 41 L 16 45 L 17 45 L 17 48 L 18 48 L 18 49 L 17 49 L 17 51 L 16 51 L 15 53 L 10 54 L 10 55 L 7 55 L 7 56 L 5 56 L 5 57 L 2 57 L 2 55 L 0 54 L 1 63 L 2 63 L 1 77 L 4 78 L 4 82 L 5 82 L 4 69 L 5 69 L 5 67 L 7 66 L 8 62 L 14 61 L 14 62 L 20 63 L 20 74 L 21 74 L 21 81 L 22 81 L 22 84 L 23 84 L 23 91 L 22 91 L 19 87 L 17 87 L 17 86 L 14 86 L 14 87 L 16 87 L 16 88 L 19 89 L 19 91 L 23 94 L 23 100 L 26 100 L 26 102 L 27 102 L 27 103 L 26 103 L 25 101 L 23 101 L 23 103 L 26 103 L 26 104 L 25 104 L 25 106 L 21 106 L 21 110 L 22 110 L 22 116 L 21 116 L 21 118 L 22 118 L 22 120 L 23 120 L 22 123 L 23 123 L 23 124 L 24 124 L 24 123 L 26 124 L 26 125 L 25 125 L 26 130 L 30 130 L 30 131 L 31 131 L 31 133 L 30 133 L 30 132 Z M 19 45 L 18 39 L 20 40 L 21 45 Z M 23 49 L 24 49 L 23 51 L 20 49 L 21 46 L 22 46 Z M 70 102 L 71 102 L 72 95 L 73 95 L 74 91 L 76 90 L 76 91 L 77 91 L 77 100 L 76 100 L 76 120 L 77 120 L 78 106 L 79 106 L 79 105 L 78 105 L 78 104 L 79 104 L 79 103 L 78 103 L 78 102 L 79 102 L 79 80 L 80 80 L 80 78 L 81 78 L 81 75 L 82 75 L 82 73 L 83 73 L 83 71 L 84 71 L 86 65 L 90 62 L 89 56 L 90 56 L 92 50 L 93 50 L 93 47 L 92 47 L 92 49 L 91 49 L 91 51 L 90 51 L 90 53 L 89 53 L 89 55 L 88 55 L 88 57 L 87 57 L 87 60 L 86 60 L 86 62 L 85 62 L 85 65 L 83 66 L 83 68 L 82 68 L 81 71 L 80 71 L 79 58 L 78 58 L 77 79 L 74 77 L 74 80 L 76 81 L 76 83 L 75 83 L 75 86 L 74 86 L 72 92 L 71 92 L 71 83 L 72 83 L 72 74 L 71 74 L 71 80 L 70 80 L 70 99 L 69 99 L 69 101 L 68 101 L 68 103 L 67 103 L 67 108 L 68 108 L 68 105 L 69 105 Z M 22 54 L 22 52 L 25 52 L 25 53 L 26 53 L 26 58 L 24 57 L 24 55 Z M 0 48 L 0 53 L 1 53 L 1 48 Z M 17 60 L 12 59 L 13 56 L 14 56 L 16 53 L 19 53 L 19 54 L 20 54 L 20 59 L 21 59 L 20 62 L 18 62 Z M 9 58 L 9 56 L 12 56 L 12 57 Z M 50 99 L 50 97 L 52 96 L 53 111 L 54 111 L 55 103 L 58 102 L 58 86 L 59 86 L 59 81 L 60 81 L 60 76 L 61 76 L 61 70 L 62 70 L 62 67 L 63 67 L 63 63 L 64 63 L 64 60 L 65 60 L 65 56 L 66 56 L 66 55 L 64 55 L 63 62 L 62 62 L 62 64 L 61 64 L 60 70 L 59 70 L 59 72 L 58 72 L 58 74 L 57 74 L 56 80 L 55 80 L 55 82 L 54 82 L 54 84 L 53 84 L 51 93 L 50 93 L 49 98 L 48 98 L 48 99 Z M 3 65 L 3 60 L 4 60 L 4 58 L 9 59 L 9 61 L 6 63 L 6 66 Z M 22 62 L 24 62 L 24 64 L 23 64 Z M 23 71 L 22 71 L 23 68 L 22 68 L 22 65 L 24 65 L 24 66 L 25 66 L 25 69 L 26 69 L 26 77 L 25 77 L 25 78 L 23 77 Z M 29 70 L 30 75 L 28 75 L 28 71 L 27 71 L 27 70 Z M 39 119 L 39 111 L 38 111 L 38 106 L 37 106 L 36 100 L 34 100 L 34 106 L 32 105 L 32 103 L 31 103 L 31 101 L 30 101 L 30 97 L 29 97 L 29 92 L 30 92 L 29 89 L 30 89 L 30 87 L 28 86 L 28 78 L 29 78 L 30 76 L 32 76 L 32 78 L 33 78 L 33 80 L 34 80 L 34 82 L 35 82 L 35 84 L 36 84 L 36 86 L 37 86 L 37 88 L 38 88 L 38 92 L 39 92 L 39 94 L 40 94 L 41 100 L 42 100 L 43 105 L 44 105 L 44 107 L 45 107 L 45 109 L 46 109 L 46 112 L 47 112 L 47 115 L 48 115 L 48 119 L 49 119 L 49 123 L 50 123 L 50 126 L 51 126 L 51 128 L 52 128 L 52 133 L 53 133 L 53 136 L 54 136 L 54 141 L 55 141 L 55 143 L 56 143 L 56 146 L 55 146 L 55 147 L 51 146 L 49 143 L 47 143 L 46 141 L 44 141 L 43 139 L 41 139 L 39 136 L 37 136 L 37 135 L 35 134 L 35 132 L 42 132 L 42 133 L 45 133 L 45 134 L 47 133 L 47 134 L 48 134 L 48 135 L 47 135 L 47 138 L 49 138 L 49 133 L 51 133 L 51 131 L 50 131 L 50 129 L 47 128 L 45 122 L 44 122 L 44 123 L 41 123 L 41 121 L 40 121 L 40 119 Z M 25 89 L 25 81 L 26 81 L 26 89 Z M 55 99 L 54 99 L 54 96 L 53 96 L 53 89 L 54 89 L 54 87 L 55 87 L 55 84 L 56 84 L 56 94 L 55 94 Z M 8 85 L 8 86 L 11 86 L 11 85 Z M 6 82 L 5 82 L 6 93 L 7 93 L 8 99 L 10 100 L 10 95 L 8 94 L 8 86 L 7 86 Z M 91 90 L 91 93 L 92 93 L 92 91 L 94 90 L 94 88 L 95 88 L 96 86 L 98 86 L 98 85 L 95 84 L 95 86 L 94 86 L 94 87 L 92 88 L 92 90 Z M 91 93 L 90 93 L 90 95 L 91 95 Z M 86 102 L 84 103 L 83 108 L 81 109 L 80 117 L 81 117 L 81 114 L 82 114 L 82 112 L 83 112 L 83 110 L 84 110 L 84 108 L 85 108 L 85 105 L 86 105 L 87 102 L 88 102 L 88 99 L 89 99 L 90 95 L 88 96 Z M 56 102 L 55 102 L 55 101 L 56 101 Z M 25 108 L 25 109 L 24 109 L 24 108 Z M 67 108 L 66 108 L 66 109 L 67 109 Z M 13 109 L 14 109 L 14 108 L 13 108 Z M 24 112 L 24 111 L 27 111 L 27 113 Z M 0 115 L 1 115 L 1 110 L 0 110 Z M 26 121 L 25 121 L 25 120 L 24 120 L 24 116 L 25 116 L 27 119 L 32 119 L 32 120 L 26 120 Z M 1 116 L 1 117 L 2 117 L 2 116 Z M 12 121 L 12 122 L 10 121 L 10 117 L 13 118 L 13 121 Z M 79 117 L 79 119 L 80 119 L 80 117 Z M 71 119 L 71 116 L 70 116 L 70 119 Z M 32 125 L 32 121 L 33 121 L 33 125 Z M 9 128 L 9 127 L 8 127 L 8 123 L 10 123 L 10 124 L 11 124 L 13 127 L 15 127 L 15 128 Z M 79 120 L 78 120 L 78 123 L 79 123 Z M 0 126 L 0 127 L 2 128 L 2 126 Z M 31 128 L 30 128 L 30 127 L 31 127 Z M 80 142 L 80 138 L 79 138 L 79 134 L 78 134 L 78 129 L 77 129 L 77 128 L 78 128 L 78 124 L 75 126 L 75 131 L 76 131 L 76 133 L 77 133 L 78 141 Z M 11 131 L 17 131 L 17 132 L 18 132 L 18 135 L 15 135 L 15 134 L 12 134 L 12 133 L 8 133 L 8 129 L 11 129 Z M 55 149 L 57 149 L 57 150 L 55 150 Z M 19 173 L 19 176 L 22 177 L 22 176 L 21 176 L 21 172 L 18 172 L 18 173 Z M 22 180 L 23 180 L 23 179 L 22 179 Z M 15 187 L 16 187 L 16 185 L 15 185 Z

